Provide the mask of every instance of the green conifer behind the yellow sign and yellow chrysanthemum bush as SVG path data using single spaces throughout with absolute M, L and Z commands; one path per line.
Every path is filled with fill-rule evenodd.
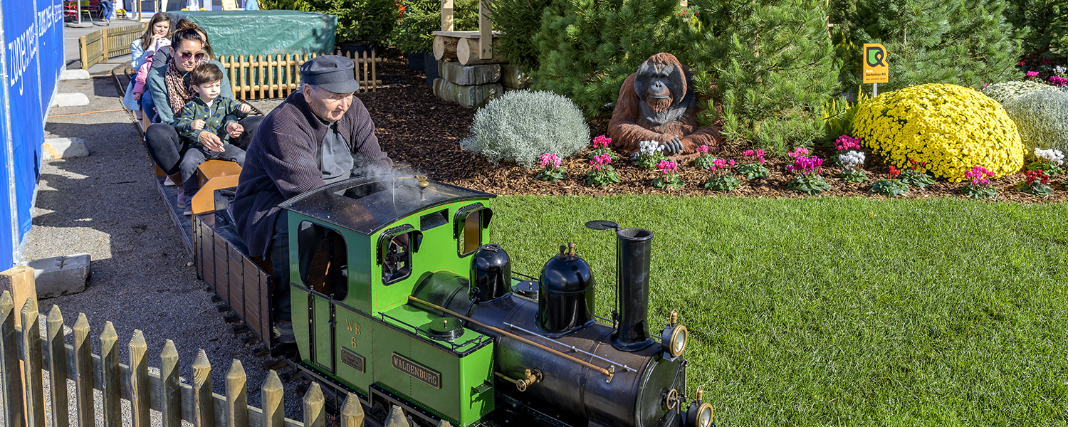
M 1017 31 L 1005 20 L 1005 0 L 866 0 L 843 11 L 846 42 L 843 82 L 861 82 L 864 43 L 886 47 L 890 82 L 880 92 L 924 83 L 977 88 L 1014 77 L 1020 54 Z

